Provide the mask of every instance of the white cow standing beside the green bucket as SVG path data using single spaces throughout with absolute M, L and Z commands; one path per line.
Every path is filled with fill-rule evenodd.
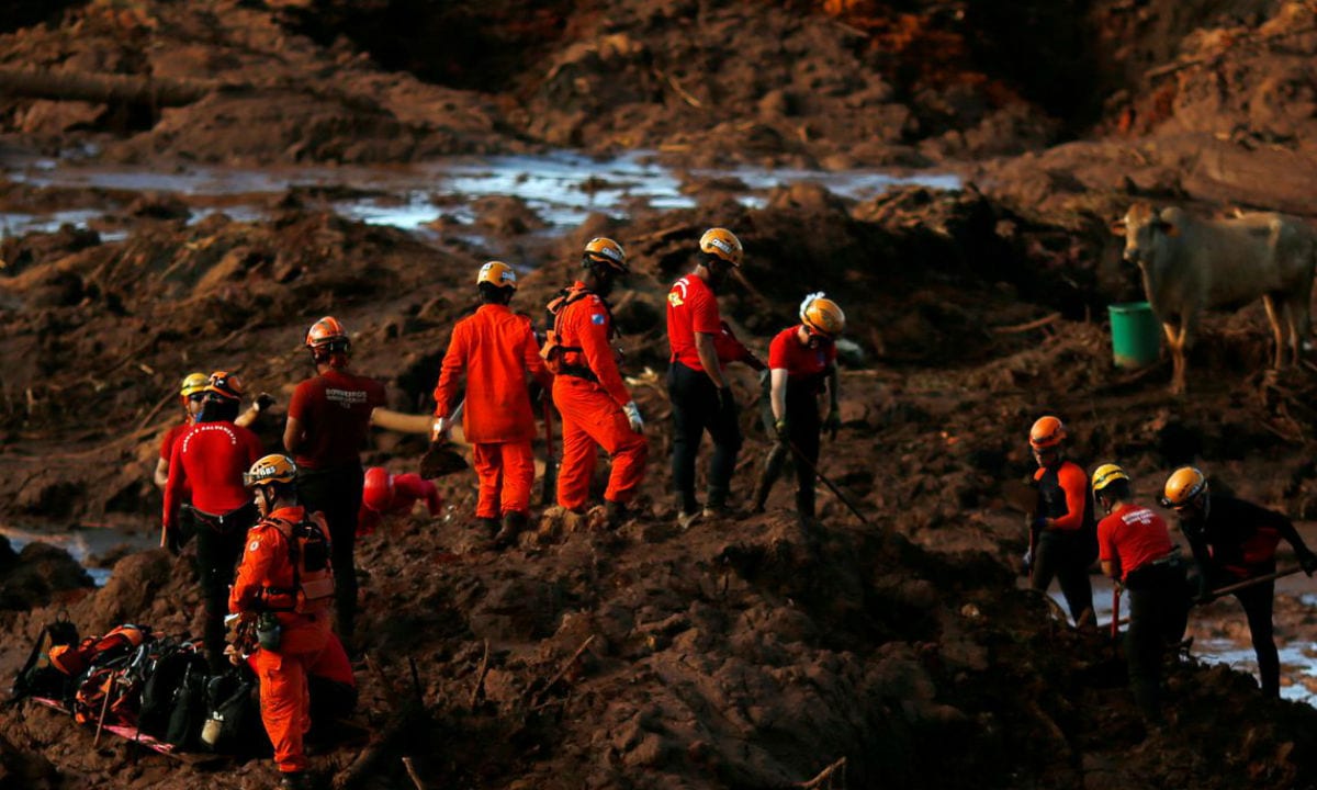
M 1180 208 L 1135 203 L 1113 230 L 1125 236 L 1125 259 L 1143 271 L 1143 291 L 1171 348 L 1171 392 L 1184 392 L 1185 357 L 1202 311 L 1242 307 L 1259 296 L 1284 365 L 1285 337 L 1295 362 L 1309 330 L 1317 234 L 1301 220 L 1246 213 L 1205 220 Z

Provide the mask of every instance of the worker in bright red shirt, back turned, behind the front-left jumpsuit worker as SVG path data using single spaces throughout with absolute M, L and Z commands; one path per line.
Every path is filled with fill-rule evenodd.
M 161 545 L 178 554 L 180 512 L 196 529 L 196 574 L 205 606 L 203 643 L 212 670 L 224 668 L 224 598 L 233 581 L 233 565 L 242 553 L 242 537 L 255 521 L 255 506 L 242 487 L 242 473 L 261 457 L 261 440 L 233 420 L 242 402 L 242 382 L 227 373 L 212 373 L 198 423 L 188 428 L 170 453 L 165 482 L 165 515 Z M 191 504 L 184 491 L 191 487 Z

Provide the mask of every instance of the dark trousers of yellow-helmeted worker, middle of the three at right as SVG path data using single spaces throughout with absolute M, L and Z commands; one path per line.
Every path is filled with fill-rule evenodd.
M 1179 562 L 1143 566 L 1125 583 L 1130 596 L 1130 629 L 1125 635 L 1125 661 L 1134 702 L 1144 720 L 1162 720 L 1162 656 L 1184 636 L 1189 596 L 1184 566 Z

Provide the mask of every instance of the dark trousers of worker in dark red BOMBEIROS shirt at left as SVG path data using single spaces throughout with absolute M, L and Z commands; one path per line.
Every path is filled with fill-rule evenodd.
M 298 470 L 298 499 L 308 512 L 324 514 L 329 524 L 335 611 L 344 643 L 352 641 L 357 625 L 357 562 L 353 550 L 363 478 L 361 463 Z

